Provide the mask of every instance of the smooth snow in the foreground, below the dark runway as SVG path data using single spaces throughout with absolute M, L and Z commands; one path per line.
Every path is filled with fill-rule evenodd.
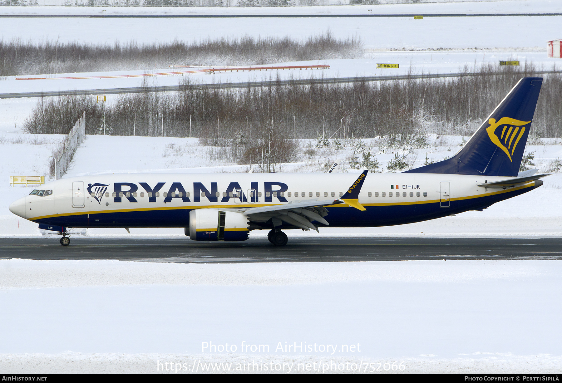
M 235 370 L 252 361 L 294 363 L 291 373 L 298 363 L 320 363 L 309 373 L 349 373 L 346 363 L 371 373 L 562 366 L 558 261 L 11 259 L 0 261 L 0 276 L 0 325 L 10 329 L 0 334 L 3 373 L 156 373 L 158 361 L 185 363 L 183 373 L 194 362 L 199 372 L 199 362 Z M 301 342 L 306 352 L 285 350 Z M 344 371 L 330 371 L 330 362 Z M 384 371 L 392 363 L 404 371 Z

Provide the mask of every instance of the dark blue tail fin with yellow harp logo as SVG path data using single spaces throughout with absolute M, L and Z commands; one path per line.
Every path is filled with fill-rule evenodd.
M 542 77 L 519 80 L 459 153 L 405 173 L 516 177 L 541 85 Z

